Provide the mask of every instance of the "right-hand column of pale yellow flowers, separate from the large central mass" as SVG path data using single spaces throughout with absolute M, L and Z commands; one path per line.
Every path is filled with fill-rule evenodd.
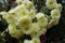
M 49 10 L 51 10 L 50 12 L 50 22 L 49 22 L 49 28 L 51 28 L 53 25 L 57 25 L 58 24 L 58 19 L 61 17 L 61 12 L 62 12 L 62 4 L 57 3 L 56 0 L 47 0 L 46 1 L 46 5 Z

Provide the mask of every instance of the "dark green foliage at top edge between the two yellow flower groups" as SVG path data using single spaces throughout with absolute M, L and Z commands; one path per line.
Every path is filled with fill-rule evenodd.
M 37 12 L 40 12 L 40 10 L 46 5 L 44 0 L 31 0 L 31 1 L 34 1 Z

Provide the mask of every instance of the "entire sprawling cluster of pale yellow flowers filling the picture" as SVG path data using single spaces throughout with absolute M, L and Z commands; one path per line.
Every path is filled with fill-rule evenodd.
M 40 43 L 39 37 L 47 32 L 48 28 L 58 24 L 62 4 L 56 0 L 47 0 L 46 5 L 51 10 L 51 15 L 37 13 L 34 2 L 29 0 L 16 0 L 17 6 L 9 12 L 1 12 L 6 19 L 9 33 L 20 39 L 24 33 L 29 34 L 31 40 L 24 40 L 24 43 Z M 51 17 L 51 19 L 49 19 Z

